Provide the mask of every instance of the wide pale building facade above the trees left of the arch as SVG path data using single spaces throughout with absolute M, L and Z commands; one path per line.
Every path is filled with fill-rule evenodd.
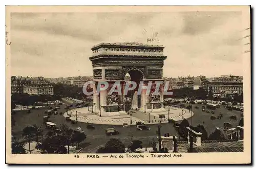
M 26 85 L 24 86 L 24 93 L 30 95 L 53 95 L 53 86 L 51 85 Z

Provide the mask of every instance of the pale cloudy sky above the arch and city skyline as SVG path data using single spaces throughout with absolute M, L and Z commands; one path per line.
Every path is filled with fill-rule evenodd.
M 12 13 L 11 75 L 92 76 L 91 47 L 157 33 L 165 77 L 243 75 L 241 12 Z

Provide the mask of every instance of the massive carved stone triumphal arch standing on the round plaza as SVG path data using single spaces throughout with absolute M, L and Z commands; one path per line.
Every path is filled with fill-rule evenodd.
M 140 81 L 147 86 L 148 81 L 163 82 L 163 63 L 167 58 L 163 54 L 163 46 L 142 43 L 100 43 L 92 47 L 90 57 L 93 65 L 93 80 L 95 81 L 93 95 L 93 112 L 99 116 L 115 116 L 125 114 L 124 111 L 124 78 L 126 73 L 139 86 Z M 95 94 L 98 82 L 107 81 L 109 88 Z M 108 95 L 116 81 L 120 81 L 122 95 Z M 154 86 L 154 85 L 153 85 Z M 162 87 L 160 87 L 162 89 Z M 159 95 L 146 95 L 146 90 L 137 95 L 138 88 L 133 92 L 132 108 L 141 112 L 165 111 L 163 108 L 163 90 Z

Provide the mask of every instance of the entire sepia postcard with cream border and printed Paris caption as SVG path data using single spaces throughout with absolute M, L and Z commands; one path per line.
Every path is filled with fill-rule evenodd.
M 250 163 L 250 32 L 249 6 L 7 6 L 6 162 Z

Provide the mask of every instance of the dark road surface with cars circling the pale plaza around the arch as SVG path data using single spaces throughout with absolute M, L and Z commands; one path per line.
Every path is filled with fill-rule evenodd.
M 56 105 L 57 106 L 57 105 Z M 193 126 L 197 126 L 198 124 L 204 125 L 206 128 L 206 131 L 208 132 L 208 135 L 215 130 L 216 127 L 223 128 L 224 122 L 230 122 L 232 126 L 237 126 L 239 123 L 240 111 L 232 110 L 228 111 L 224 106 L 221 106 L 221 108 L 216 109 L 215 116 L 217 117 L 219 114 L 219 111 L 221 110 L 223 114 L 223 118 L 221 120 L 210 120 L 210 113 L 202 112 L 201 111 L 201 105 L 199 104 L 192 104 L 193 106 L 193 112 L 194 116 L 192 117 L 192 124 Z M 195 106 L 199 106 L 198 109 L 195 109 Z M 54 108 L 55 106 L 53 106 Z M 61 108 L 58 109 L 58 112 L 65 112 L 65 105 L 61 105 Z M 17 111 L 15 115 L 13 115 L 16 124 L 13 127 L 12 135 L 14 135 L 17 138 L 22 138 L 22 130 L 24 127 L 29 125 L 37 125 L 41 126 L 41 128 L 44 130 L 44 135 L 47 133 L 47 129 L 45 128 L 43 124 L 43 116 L 46 116 L 44 114 L 44 111 L 47 109 L 47 107 L 40 108 L 40 109 L 33 109 L 31 110 L 30 114 L 27 114 L 24 111 Z M 189 113 L 189 112 L 186 112 Z M 237 121 L 231 121 L 229 117 L 231 115 L 238 116 Z M 150 146 L 154 141 L 156 141 L 157 136 L 157 130 L 159 124 L 148 124 L 151 128 L 151 130 L 147 131 L 140 131 L 136 129 L 136 126 L 131 126 L 130 128 L 122 127 L 121 125 L 101 125 L 101 124 L 93 124 L 95 126 L 94 130 L 87 129 L 87 123 L 80 123 L 77 124 L 71 124 L 69 121 L 66 121 L 66 119 L 63 117 L 63 115 L 51 115 L 50 121 L 53 123 L 56 123 L 57 127 L 59 127 L 60 124 L 67 124 L 68 127 L 76 129 L 77 127 L 80 127 L 87 135 L 87 138 L 84 140 L 84 143 L 81 143 L 81 146 L 84 145 L 83 150 L 80 153 L 94 153 L 97 151 L 97 149 L 101 146 L 103 146 L 110 138 L 118 138 L 120 139 L 125 146 L 128 146 L 131 143 L 131 140 L 139 139 L 143 142 L 144 147 Z M 189 123 L 191 123 L 191 118 L 187 119 Z M 203 123 L 204 122 L 204 123 Z M 175 131 L 173 124 L 169 123 L 162 123 L 161 125 L 161 135 L 164 133 L 169 133 L 170 135 L 177 135 L 177 132 Z M 105 129 L 114 127 L 116 130 L 120 132 L 119 135 L 113 135 L 113 136 L 106 136 Z

